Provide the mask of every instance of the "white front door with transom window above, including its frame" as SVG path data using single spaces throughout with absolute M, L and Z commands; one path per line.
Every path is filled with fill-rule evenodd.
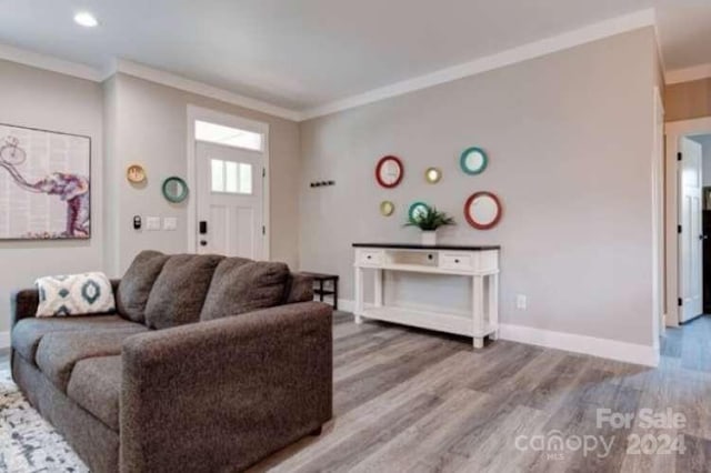
M 188 105 L 188 249 L 269 260 L 269 125 Z

